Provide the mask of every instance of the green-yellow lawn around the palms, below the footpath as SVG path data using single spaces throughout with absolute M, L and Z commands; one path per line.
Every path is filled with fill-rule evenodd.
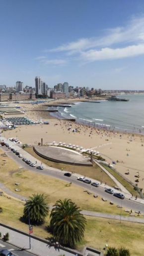
M 19 230 L 28 232 L 28 225 L 19 221 L 23 215 L 23 202 L 14 199 L 0 197 L 0 222 L 10 225 Z M 16 211 L 15 211 L 16 209 Z M 82 250 L 87 245 L 102 250 L 105 244 L 108 246 L 128 248 L 132 256 L 144 254 L 144 225 L 130 222 L 120 222 L 103 218 L 86 217 L 84 240 L 77 245 Z M 49 216 L 42 226 L 33 227 L 33 235 L 48 238 L 51 235 L 46 232 L 45 227 L 49 224 Z

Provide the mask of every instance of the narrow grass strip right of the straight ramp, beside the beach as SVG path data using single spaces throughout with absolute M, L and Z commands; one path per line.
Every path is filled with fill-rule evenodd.
M 134 187 L 126 180 L 124 179 L 121 175 L 119 175 L 117 172 L 106 166 L 105 164 L 101 164 L 105 169 L 107 169 L 121 184 L 123 184 L 126 189 L 133 194 L 134 196 L 139 196 L 138 191 L 134 189 Z

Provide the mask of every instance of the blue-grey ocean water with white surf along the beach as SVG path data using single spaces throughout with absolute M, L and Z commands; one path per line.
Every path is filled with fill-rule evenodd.
M 77 102 L 71 108 L 59 107 L 59 115 L 94 127 L 144 133 L 144 94 L 118 97 L 130 101 Z

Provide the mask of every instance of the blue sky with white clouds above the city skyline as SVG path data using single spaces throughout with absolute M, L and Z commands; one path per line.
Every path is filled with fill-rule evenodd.
M 144 90 L 144 0 L 0 0 L 0 85 Z

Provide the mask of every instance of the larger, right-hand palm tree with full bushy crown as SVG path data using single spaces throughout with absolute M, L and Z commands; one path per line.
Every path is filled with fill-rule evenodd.
M 80 211 L 71 199 L 58 200 L 54 205 L 50 214 L 50 227 L 59 243 L 72 247 L 84 237 L 86 219 Z

